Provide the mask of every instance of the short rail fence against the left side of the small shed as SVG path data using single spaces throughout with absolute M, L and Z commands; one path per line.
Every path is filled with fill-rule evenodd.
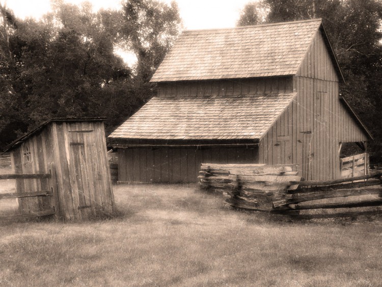
M 10 198 L 19 200 L 19 214 L 1 215 L 0 221 L 26 219 L 56 214 L 55 208 L 51 205 L 51 200 L 54 195 L 52 184 L 54 178 L 52 176 L 51 169 L 49 169 L 49 173 L 0 174 L 0 181 L 6 179 L 37 180 L 39 181 L 37 186 L 40 187 L 41 190 L 23 190 L 22 192 L 0 193 L 0 200 Z

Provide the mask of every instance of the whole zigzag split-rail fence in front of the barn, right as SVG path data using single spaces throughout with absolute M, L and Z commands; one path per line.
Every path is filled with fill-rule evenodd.
M 242 210 L 295 219 L 382 214 L 377 208 L 382 205 L 382 173 L 305 181 L 294 169 L 295 165 L 202 164 L 199 179 L 202 188 L 224 192 L 226 203 Z

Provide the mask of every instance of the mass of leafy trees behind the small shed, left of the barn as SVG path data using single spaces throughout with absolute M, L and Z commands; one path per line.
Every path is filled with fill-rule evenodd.
M 180 28 L 176 5 L 154 0 L 117 12 L 63 0 L 52 8 L 36 21 L 0 6 L 0 147 L 52 117 L 105 116 L 111 132 L 153 94 L 148 81 Z M 137 54 L 134 67 L 117 45 Z

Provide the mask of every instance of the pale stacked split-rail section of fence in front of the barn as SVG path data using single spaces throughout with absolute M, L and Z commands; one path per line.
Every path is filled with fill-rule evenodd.
M 254 211 L 271 211 L 272 202 L 290 198 L 301 177 L 296 165 L 202 164 L 201 187 L 227 193 L 226 202 Z

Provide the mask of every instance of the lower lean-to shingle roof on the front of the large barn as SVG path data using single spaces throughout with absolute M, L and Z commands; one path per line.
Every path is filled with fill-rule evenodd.
M 295 93 L 199 98 L 153 97 L 112 139 L 260 139 Z

